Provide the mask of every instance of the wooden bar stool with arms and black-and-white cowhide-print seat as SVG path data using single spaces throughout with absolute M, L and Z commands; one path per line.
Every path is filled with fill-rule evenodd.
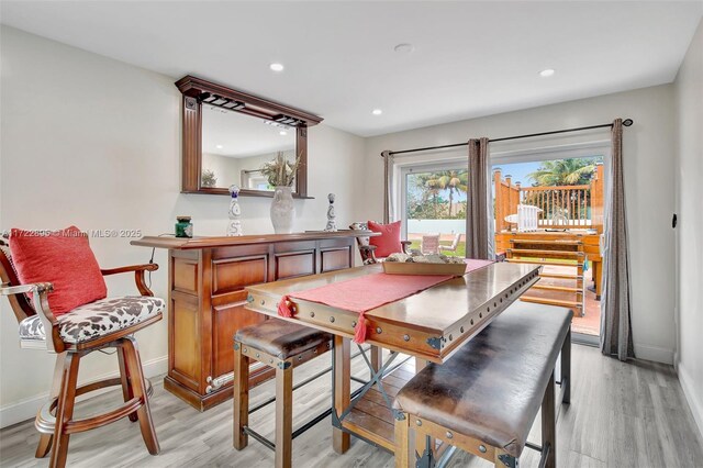
M 71 229 L 69 229 L 71 230 Z M 68 232 L 69 230 L 66 230 Z M 77 231 L 70 231 L 74 235 Z M 13 230 L 14 232 L 14 230 Z M 76 258 L 89 258 L 90 250 L 86 252 L 88 239 L 83 235 L 78 237 L 80 243 L 77 250 L 70 257 L 64 258 L 67 264 L 76 261 Z M 51 242 L 56 239 L 44 239 Z M 60 239 L 64 242 L 65 239 Z M 7 296 L 10 305 L 20 323 L 20 347 L 30 349 L 45 349 L 56 353 L 56 366 L 54 379 L 49 392 L 49 401 L 36 415 L 35 426 L 40 431 L 41 438 L 36 449 L 36 457 L 45 457 L 52 453 L 49 467 L 64 467 L 68 452 L 68 439 L 71 434 L 101 427 L 105 424 L 129 416 L 131 421 L 140 422 L 142 437 L 152 455 L 159 453 L 159 445 L 154 431 L 149 412 L 148 397 L 152 394 L 152 386 L 145 380 L 142 371 L 140 353 L 134 338 L 134 332 L 142 330 L 161 320 L 161 311 L 165 301 L 154 298 L 154 293 L 144 280 L 145 271 L 158 269 L 158 265 L 135 265 L 114 269 L 100 269 L 102 276 L 122 272 L 135 275 L 136 287 L 141 296 L 125 296 L 115 298 L 101 298 L 89 303 L 83 303 L 63 314 L 54 313 L 49 303 L 58 304 L 62 309 L 66 303 L 79 300 L 81 294 L 93 294 L 85 288 L 77 288 L 78 293 L 69 293 L 62 299 L 60 291 L 56 291 L 57 285 L 66 285 L 66 278 L 51 278 L 56 275 L 56 269 L 62 263 L 62 257 L 49 258 L 52 268 L 47 268 L 47 277 L 43 281 L 22 283 L 19 279 L 21 265 L 13 261 L 11 243 L 12 238 L 3 235 L 0 238 L 0 296 Z M 24 252 L 22 250 L 24 255 Z M 19 261 L 19 258 L 14 259 Z M 25 260 L 25 259 L 22 259 Z M 90 265 L 89 265 L 90 266 Z M 78 271 L 79 277 L 90 275 L 89 266 Z M 54 272 L 49 270 L 54 270 Z M 54 283 L 54 285 L 53 285 Z M 94 285 L 94 280 L 87 280 Z M 99 283 L 98 283 L 99 285 Z M 104 281 L 103 281 L 104 285 Z M 96 289 L 101 289 L 100 286 Z M 107 293 L 107 289 L 105 289 Z M 97 294 L 98 297 L 102 293 Z M 54 298 L 58 298 L 54 301 Z M 78 364 L 88 354 L 104 348 L 116 348 L 120 364 L 120 377 L 92 382 L 78 387 Z M 82 420 L 74 419 L 74 404 L 76 397 L 110 386 L 121 386 L 124 405 Z

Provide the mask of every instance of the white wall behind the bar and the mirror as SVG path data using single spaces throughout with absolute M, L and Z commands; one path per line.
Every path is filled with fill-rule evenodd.
M 180 93 L 167 77 L 2 26 L 0 229 L 138 229 L 170 233 L 190 214 L 200 235 L 223 235 L 230 200 L 181 194 Z M 236 85 L 236 83 L 233 83 Z M 364 140 L 317 125 L 309 131 L 309 192 L 297 201 L 295 229 L 321 230 L 328 192 L 337 221 L 354 218 L 366 171 Z M 272 233 L 270 199 L 242 198 L 246 233 Z M 129 238 L 92 238 L 104 267 L 148 260 Z M 153 275 L 166 297 L 166 253 Z M 133 277 L 108 279 L 110 294 L 135 293 Z M 19 348 L 16 321 L 0 301 L 0 425 L 32 417 L 48 390 L 54 356 Z M 150 374 L 166 370 L 167 323 L 140 332 Z M 116 359 L 96 353 L 81 361 L 80 380 L 116 371 Z

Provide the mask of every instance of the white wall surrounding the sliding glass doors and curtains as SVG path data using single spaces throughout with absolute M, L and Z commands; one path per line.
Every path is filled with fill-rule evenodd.
M 699 103 L 700 105 L 700 103 Z M 623 152 L 627 226 L 632 261 L 633 335 L 638 357 L 673 361 L 673 90 L 658 86 L 518 112 L 491 115 L 367 140 L 367 215 L 382 214 L 384 149 L 444 145 L 470 137 L 502 137 L 550 130 L 609 123 L 631 118 L 624 131 Z M 495 143 L 492 153 L 609 140 L 606 131 L 538 140 Z M 464 153 L 465 149 L 461 149 Z M 446 153 L 456 156 L 456 151 Z M 465 157 L 464 154 L 460 155 Z M 436 155 L 435 157 L 439 157 Z M 397 159 L 402 161 L 402 159 Z

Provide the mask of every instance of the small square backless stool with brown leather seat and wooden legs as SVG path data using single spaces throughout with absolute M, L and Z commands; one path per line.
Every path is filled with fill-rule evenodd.
M 293 433 L 293 368 L 332 348 L 332 335 L 308 326 L 271 319 L 237 331 L 234 337 L 234 447 L 247 446 L 248 436 L 276 450 L 276 467 L 290 467 L 292 439 L 328 413 Z M 276 442 L 248 426 L 249 360 L 276 369 Z

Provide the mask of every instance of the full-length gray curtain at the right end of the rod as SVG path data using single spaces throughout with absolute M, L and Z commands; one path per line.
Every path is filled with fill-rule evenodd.
M 605 201 L 603 243 L 603 300 L 601 301 L 601 352 L 620 360 L 635 357 L 629 308 L 629 259 L 623 181 L 623 121 L 612 130 L 613 154 L 609 196 Z

